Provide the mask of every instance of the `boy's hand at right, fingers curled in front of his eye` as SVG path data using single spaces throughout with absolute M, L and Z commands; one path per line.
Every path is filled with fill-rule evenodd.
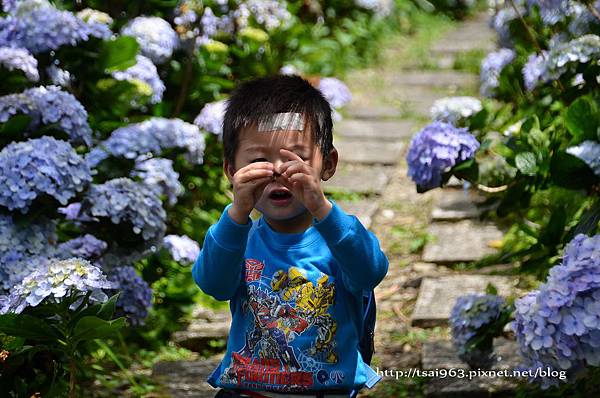
M 294 152 L 283 148 L 279 152 L 292 159 L 279 167 L 282 184 L 292 191 L 316 219 L 322 220 L 333 206 L 323 193 L 321 177 Z

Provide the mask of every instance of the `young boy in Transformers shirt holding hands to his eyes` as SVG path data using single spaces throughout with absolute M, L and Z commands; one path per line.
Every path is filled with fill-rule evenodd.
M 217 397 L 348 397 L 380 378 L 358 349 L 363 291 L 385 276 L 375 235 L 323 194 L 335 173 L 331 107 L 299 76 L 242 84 L 223 122 L 233 203 L 192 274 L 230 300 Z M 256 208 L 258 220 L 249 215 Z

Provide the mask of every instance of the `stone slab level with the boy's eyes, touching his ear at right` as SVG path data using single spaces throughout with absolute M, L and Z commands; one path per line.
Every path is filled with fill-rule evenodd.
M 402 142 L 341 140 L 335 144 L 340 162 L 395 165 L 400 160 Z

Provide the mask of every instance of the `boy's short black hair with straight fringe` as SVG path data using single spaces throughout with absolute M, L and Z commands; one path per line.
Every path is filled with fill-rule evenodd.
M 267 121 L 274 113 L 297 112 L 305 116 L 323 156 L 333 148 L 331 105 L 323 94 L 297 75 L 253 79 L 236 88 L 227 101 L 223 119 L 223 154 L 234 164 L 240 130 Z

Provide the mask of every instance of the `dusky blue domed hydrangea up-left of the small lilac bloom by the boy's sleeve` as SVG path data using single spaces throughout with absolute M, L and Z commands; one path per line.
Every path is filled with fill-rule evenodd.
M 156 192 L 129 178 L 91 185 L 82 203 L 90 217 L 108 218 L 113 224 L 129 222 L 144 240 L 159 239 L 165 232 L 166 212 Z

